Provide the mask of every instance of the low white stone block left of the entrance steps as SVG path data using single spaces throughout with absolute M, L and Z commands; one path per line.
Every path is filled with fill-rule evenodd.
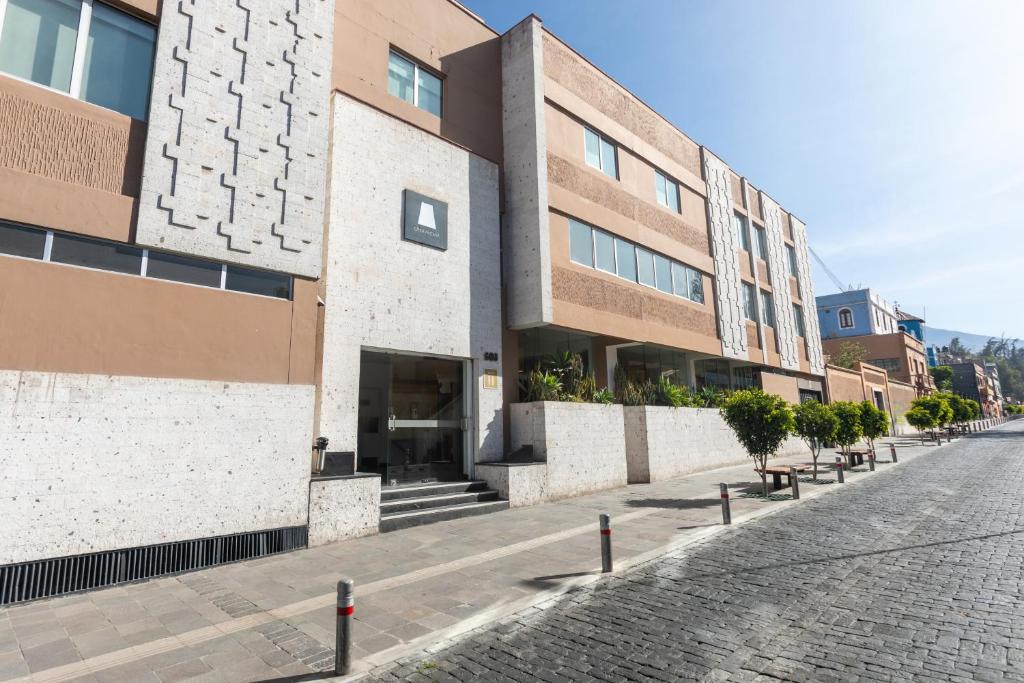
M 309 545 L 372 536 L 380 530 L 381 478 L 374 474 L 309 482 Z

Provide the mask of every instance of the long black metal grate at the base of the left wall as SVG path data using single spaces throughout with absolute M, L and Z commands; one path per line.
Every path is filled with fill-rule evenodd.
M 0 605 L 88 591 L 305 548 L 308 529 L 289 526 L 197 541 L 0 566 Z

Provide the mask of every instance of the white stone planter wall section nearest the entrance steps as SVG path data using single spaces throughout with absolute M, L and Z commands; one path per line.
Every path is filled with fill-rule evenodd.
M 509 410 L 512 450 L 531 445 L 547 464 L 547 500 L 626 485 L 622 405 L 537 401 Z

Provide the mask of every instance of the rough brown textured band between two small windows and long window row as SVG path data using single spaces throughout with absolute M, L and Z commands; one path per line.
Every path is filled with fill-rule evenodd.
M 572 162 L 548 153 L 548 178 L 553 184 L 564 187 L 598 206 L 610 209 L 631 220 L 672 238 L 688 247 L 707 254 L 708 233 L 671 213 L 644 202 L 630 193 L 618 189 L 617 183 L 588 173 Z

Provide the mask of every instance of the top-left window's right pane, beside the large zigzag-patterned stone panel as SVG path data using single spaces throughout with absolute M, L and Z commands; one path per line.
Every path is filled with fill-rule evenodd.
M 102 3 L 92 5 L 82 99 L 145 120 L 157 30 Z

